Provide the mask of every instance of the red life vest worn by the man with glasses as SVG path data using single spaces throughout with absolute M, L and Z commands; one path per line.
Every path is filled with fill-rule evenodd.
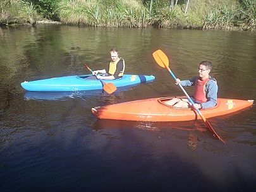
M 195 92 L 193 98 L 198 100 L 199 102 L 207 102 L 206 94 L 205 94 L 205 85 L 208 83 L 209 80 L 214 80 L 214 78 L 207 78 L 204 81 L 199 80 L 195 81 Z

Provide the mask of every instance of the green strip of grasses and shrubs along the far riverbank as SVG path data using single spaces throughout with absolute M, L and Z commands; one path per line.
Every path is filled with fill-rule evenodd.
M 256 0 L 1 0 L 0 23 L 256 30 Z

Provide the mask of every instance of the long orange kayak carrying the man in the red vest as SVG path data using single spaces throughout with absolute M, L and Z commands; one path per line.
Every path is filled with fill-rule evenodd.
M 181 97 L 180 97 L 181 98 Z M 184 97 L 182 97 L 184 98 Z M 126 121 L 191 121 L 201 119 L 195 109 L 181 109 L 167 105 L 173 97 L 134 100 L 119 104 L 92 108 L 99 119 Z M 209 109 L 200 109 L 205 118 L 224 116 L 252 107 L 253 100 L 217 99 L 217 105 Z

